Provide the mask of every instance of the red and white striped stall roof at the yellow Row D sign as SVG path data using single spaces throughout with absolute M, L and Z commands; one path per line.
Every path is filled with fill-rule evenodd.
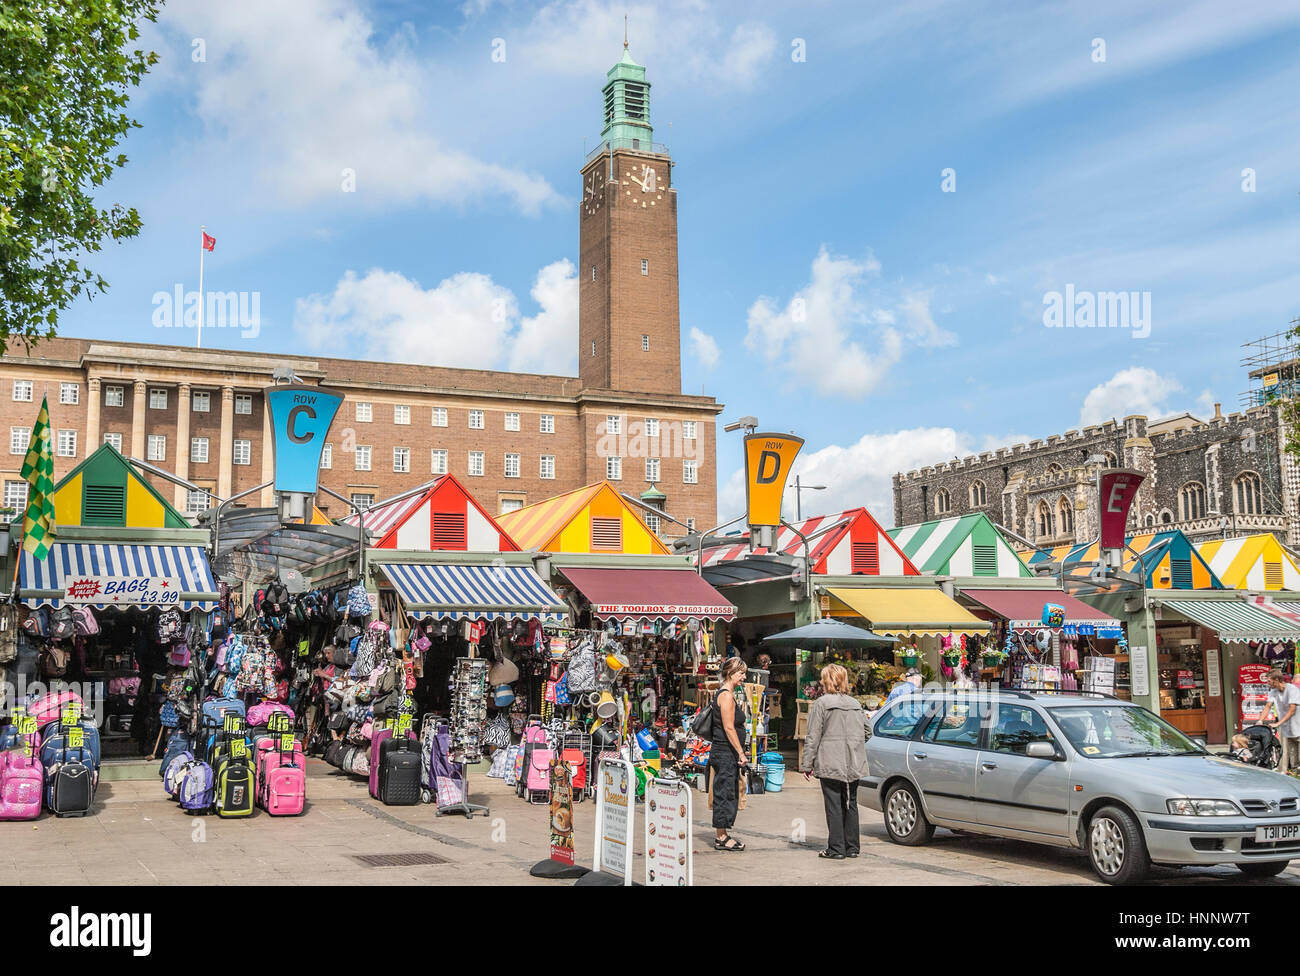
M 796 529 L 798 532 L 796 532 Z M 889 538 L 889 533 L 866 508 L 849 508 L 836 515 L 818 515 L 776 528 L 776 546 L 767 550 L 759 546 L 749 548 L 749 535 L 737 535 L 736 542 L 710 546 L 703 552 L 705 568 L 748 559 L 749 556 L 785 555 L 802 556 L 803 535 L 814 535 L 826 530 L 824 535 L 812 541 L 809 547 L 809 561 L 812 572 L 819 574 L 850 576 L 919 576 L 920 572 L 907 555 Z M 848 546 L 841 548 L 841 543 Z M 842 556 L 842 558 L 841 558 Z

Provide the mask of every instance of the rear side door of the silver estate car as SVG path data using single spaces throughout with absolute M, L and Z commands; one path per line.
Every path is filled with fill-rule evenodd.
M 907 747 L 907 772 L 931 820 L 975 823 L 980 708 L 971 700 L 935 703 L 935 715 Z

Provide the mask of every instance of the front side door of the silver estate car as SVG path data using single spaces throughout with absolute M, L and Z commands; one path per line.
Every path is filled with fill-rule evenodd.
M 998 702 L 975 775 L 978 823 L 1027 836 L 1067 837 L 1069 763 L 1024 755 L 1031 742 L 1050 742 L 1066 755 L 1041 712 L 1023 703 Z

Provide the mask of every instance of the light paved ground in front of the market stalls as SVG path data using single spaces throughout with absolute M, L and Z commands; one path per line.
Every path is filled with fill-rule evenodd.
M 529 867 L 547 856 L 546 808 L 515 798 L 499 780 L 473 776 L 473 799 L 491 807 L 474 820 L 439 817 L 430 806 L 385 807 L 365 782 L 311 760 L 302 817 L 195 819 L 162 797 L 157 778 L 103 782 L 96 814 L 0 824 L 0 885 L 176 884 L 571 884 L 540 881 Z M 845 885 L 1092 885 L 1082 855 L 940 830 L 926 847 L 898 847 L 880 817 L 863 811 L 862 856 L 823 862 L 826 842 L 816 784 L 788 776 L 779 794 L 749 798 L 736 834 L 745 854 L 711 847 L 708 811 L 696 806 L 697 884 Z M 594 803 L 578 803 L 578 863 L 590 864 Z M 642 821 L 637 819 L 638 847 Z M 432 854 L 442 863 L 365 867 L 354 855 Z M 640 856 L 633 871 L 640 881 Z M 1239 884 L 1232 868 L 1157 869 L 1154 881 Z M 1287 871 L 1266 885 L 1300 884 Z

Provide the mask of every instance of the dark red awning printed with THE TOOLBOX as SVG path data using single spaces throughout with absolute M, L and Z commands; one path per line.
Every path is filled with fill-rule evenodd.
M 564 569 L 592 602 L 597 617 L 714 617 L 736 616 L 725 597 L 694 569 Z

